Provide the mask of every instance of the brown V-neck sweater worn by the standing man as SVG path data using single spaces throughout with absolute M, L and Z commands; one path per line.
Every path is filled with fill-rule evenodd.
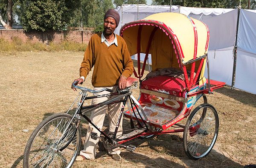
M 94 87 L 111 87 L 118 84 L 121 75 L 126 78 L 133 72 L 133 62 L 122 37 L 116 35 L 118 46 L 107 46 L 101 42 L 101 33 L 91 37 L 84 52 L 80 76 L 88 75 L 94 66 L 92 84 Z

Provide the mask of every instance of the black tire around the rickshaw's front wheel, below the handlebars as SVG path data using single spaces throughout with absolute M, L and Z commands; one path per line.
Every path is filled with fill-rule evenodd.
M 53 114 L 49 117 L 47 117 L 46 119 L 44 119 L 36 128 L 35 130 L 32 132 L 31 136 L 29 137 L 29 140 L 27 142 L 25 151 L 24 151 L 24 155 L 23 155 L 23 168 L 29 168 L 29 154 L 30 154 L 30 150 L 31 147 L 35 141 L 35 139 L 37 138 L 37 136 L 39 136 L 39 133 L 41 133 L 41 130 L 46 128 L 45 126 L 47 126 L 50 122 L 56 120 L 56 119 L 67 119 L 67 120 L 71 120 L 72 116 L 70 114 L 67 113 L 57 113 L 57 114 Z M 71 134 L 70 134 L 71 135 Z M 67 163 L 67 168 L 70 168 L 73 163 L 75 162 L 76 156 L 79 153 L 79 149 L 80 149 L 80 144 L 81 144 L 81 129 L 80 126 L 78 127 L 77 131 L 76 131 L 76 148 L 73 151 L 73 156 L 70 159 L 70 162 Z M 69 136 L 70 137 L 70 136 Z M 71 142 L 72 143 L 72 142 Z M 67 148 L 69 148 L 69 146 L 67 146 Z M 67 149 L 68 150 L 68 149 Z M 45 166 L 44 166 L 45 167 Z M 60 166 L 61 167 L 61 166 Z

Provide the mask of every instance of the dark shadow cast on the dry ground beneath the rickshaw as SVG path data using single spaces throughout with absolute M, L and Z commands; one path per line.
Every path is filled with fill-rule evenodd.
M 50 116 L 52 113 L 46 113 L 44 119 Z M 107 118 L 107 116 L 106 116 Z M 108 132 L 106 128 L 108 126 L 108 119 L 105 118 L 104 126 L 105 132 Z M 82 120 L 83 127 L 82 139 L 84 138 L 87 130 L 87 122 Z M 129 129 L 129 119 L 124 119 L 123 127 Z M 242 168 L 243 166 L 237 162 L 234 162 L 230 158 L 223 154 L 212 150 L 211 153 L 205 158 L 199 160 L 192 160 L 186 156 L 183 150 L 183 139 L 176 134 L 163 134 L 145 139 L 134 139 L 127 142 L 125 145 L 132 144 L 137 147 L 134 153 L 122 150 L 122 157 L 126 161 L 133 163 L 140 163 L 145 168 L 182 168 L 186 167 L 221 167 L 221 168 Z M 217 141 L 218 142 L 218 141 Z M 81 144 L 81 148 L 83 142 Z M 96 155 L 96 159 L 108 156 L 105 150 L 102 140 L 99 142 L 99 149 Z M 167 158 L 168 157 L 168 158 Z M 167 158 L 167 159 L 166 159 Z M 23 156 L 16 159 L 12 168 L 17 168 L 20 162 L 22 162 Z

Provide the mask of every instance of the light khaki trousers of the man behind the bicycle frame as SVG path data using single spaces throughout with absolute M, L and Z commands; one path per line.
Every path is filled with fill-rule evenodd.
M 118 86 L 94 87 L 94 90 L 101 90 L 103 88 L 109 88 L 109 89 L 112 89 L 112 90 L 116 91 L 117 87 Z M 109 94 L 109 92 L 104 91 L 104 92 L 101 92 L 99 94 L 104 95 L 104 94 Z M 96 94 L 95 94 L 95 96 L 96 96 Z M 113 96 L 111 96 L 109 98 L 113 98 Z M 102 101 L 106 101 L 106 100 L 108 100 L 108 97 L 94 98 L 92 100 L 92 104 L 98 104 L 98 103 L 100 103 Z M 121 108 L 122 108 L 122 103 L 115 103 L 115 104 L 105 105 L 105 106 L 100 107 L 96 110 L 93 110 L 91 112 L 90 119 L 92 120 L 92 122 L 94 124 L 96 124 L 99 127 L 99 129 L 102 130 L 103 122 L 104 122 L 104 119 L 105 119 L 105 114 L 108 111 L 109 133 L 113 133 L 116 129 L 116 123 L 117 123 Z M 84 149 L 83 149 L 83 151 L 80 151 L 80 155 L 83 155 L 87 159 L 95 159 L 96 149 L 97 149 L 97 146 L 98 146 L 99 138 L 96 139 L 96 140 L 92 139 L 91 136 L 90 136 L 90 133 L 97 133 L 97 135 L 100 136 L 100 132 L 98 130 L 96 130 L 96 128 L 94 128 L 89 123 L 87 134 L 86 134 L 85 141 L 84 141 Z M 122 119 L 120 120 L 118 133 L 116 134 L 116 136 L 118 137 L 118 136 L 121 136 L 121 135 L 122 135 Z M 110 154 L 110 155 L 120 154 L 120 148 L 118 147 L 118 148 L 108 150 L 108 154 Z

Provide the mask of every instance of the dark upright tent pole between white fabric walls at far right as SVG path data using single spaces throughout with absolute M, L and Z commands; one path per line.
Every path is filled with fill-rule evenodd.
M 237 46 L 236 45 L 237 45 L 240 9 L 241 9 L 241 6 L 238 6 L 237 22 L 236 22 L 236 41 L 235 41 L 235 46 L 234 46 L 234 49 L 233 49 L 234 64 L 233 64 L 233 76 L 232 76 L 231 89 L 234 89 L 234 85 L 235 85 L 235 81 L 236 81 L 236 58 L 237 58 Z

